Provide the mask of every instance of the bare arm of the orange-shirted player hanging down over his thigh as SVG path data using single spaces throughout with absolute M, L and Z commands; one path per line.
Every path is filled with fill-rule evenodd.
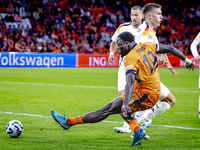
M 131 108 L 128 106 L 128 103 L 131 99 L 134 89 L 134 81 L 135 81 L 135 74 L 130 72 L 126 75 L 126 86 L 125 86 L 125 98 L 121 108 L 122 114 L 124 117 L 129 117 L 132 113 Z

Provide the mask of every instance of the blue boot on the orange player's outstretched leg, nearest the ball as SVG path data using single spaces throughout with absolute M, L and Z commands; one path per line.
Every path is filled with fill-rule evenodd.
M 51 111 L 51 115 L 54 120 L 61 125 L 64 130 L 68 130 L 71 126 L 67 125 L 67 117 L 60 115 L 54 110 Z

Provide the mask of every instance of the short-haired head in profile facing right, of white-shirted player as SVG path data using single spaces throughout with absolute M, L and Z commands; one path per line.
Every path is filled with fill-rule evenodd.
M 148 24 L 156 28 L 162 22 L 161 5 L 156 3 L 148 3 L 142 8 L 142 12 Z

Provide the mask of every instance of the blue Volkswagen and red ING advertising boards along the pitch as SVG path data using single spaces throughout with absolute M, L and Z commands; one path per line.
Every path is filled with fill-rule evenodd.
M 107 66 L 108 54 L 66 54 L 66 53 L 0 53 L 0 67 L 118 67 L 119 55 Z M 187 55 L 195 67 L 198 64 L 192 55 Z M 173 67 L 184 67 L 183 61 L 168 56 Z M 159 67 L 166 67 L 162 65 Z

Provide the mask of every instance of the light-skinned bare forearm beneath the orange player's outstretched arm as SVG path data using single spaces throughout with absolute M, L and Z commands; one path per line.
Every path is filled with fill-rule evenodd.
M 169 62 L 169 59 L 167 57 L 167 54 L 160 54 L 158 57 L 158 64 L 159 65 L 164 65 L 166 64 L 167 68 L 175 75 L 177 76 L 177 72 L 174 70 L 174 68 L 172 67 L 172 65 Z

